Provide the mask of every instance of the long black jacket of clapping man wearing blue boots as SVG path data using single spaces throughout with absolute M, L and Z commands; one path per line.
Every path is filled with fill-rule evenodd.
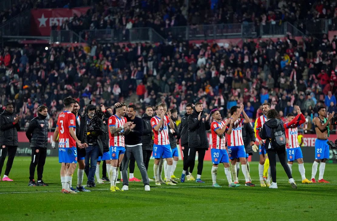
M 209 121 L 206 120 L 206 115 L 201 114 L 200 120 L 198 120 L 198 115 L 195 109 L 191 115 L 187 118 L 188 123 L 188 147 L 194 148 L 208 148 L 208 138 L 206 131 L 211 129 Z M 203 120 L 204 119 L 204 120 Z

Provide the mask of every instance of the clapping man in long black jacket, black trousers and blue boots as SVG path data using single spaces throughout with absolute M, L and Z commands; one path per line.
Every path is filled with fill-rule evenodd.
M 206 131 L 211 129 L 211 125 L 208 121 L 210 115 L 207 113 L 204 114 L 203 110 L 203 104 L 201 102 L 196 102 L 193 113 L 187 118 L 188 147 L 190 150 L 188 155 L 188 165 L 184 165 L 183 173 L 180 178 L 182 183 L 185 182 L 186 170 L 188 168 L 187 166 L 190 166 L 190 174 L 193 172 L 191 168 L 194 166 L 196 151 L 198 151 L 198 171 L 195 182 L 205 183 L 201 180 L 201 173 L 204 167 L 206 150 L 209 147 Z

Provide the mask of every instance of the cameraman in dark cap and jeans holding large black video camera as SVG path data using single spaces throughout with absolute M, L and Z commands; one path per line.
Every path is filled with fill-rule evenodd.
M 103 144 L 101 140 L 101 134 L 105 133 L 105 126 L 101 118 L 96 117 L 95 120 L 99 125 L 98 131 L 90 131 L 90 123 L 94 123 L 91 121 L 94 115 L 96 114 L 96 107 L 92 104 L 89 104 L 86 109 L 86 121 L 88 127 L 88 147 L 86 150 L 85 156 L 85 173 L 88 177 L 87 187 L 95 187 L 95 172 L 96 172 L 96 164 L 99 156 L 103 155 Z M 90 161 L 90 163 L 89 163 Z M 90 168 L 89 168 L 90 167 Z

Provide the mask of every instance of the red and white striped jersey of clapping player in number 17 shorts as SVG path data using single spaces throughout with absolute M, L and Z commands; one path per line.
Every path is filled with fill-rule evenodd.
M 159 121 L 160 118 L 158 116 L 154 116 L 151 118 L 151 127 L 154 133 L 153 143 L 158 145 L 170 144 L 170 141 L 168 140 L 168 131 L 170 130 L 168 128 L 168 125 L 170 124 L 170 119 L 168 119 L 168 116 L 165 115 L 165 119 L 161 124 L 161 128 L 159 129 L 159 131 L 155 131 L 154 127 L 158 125 Z

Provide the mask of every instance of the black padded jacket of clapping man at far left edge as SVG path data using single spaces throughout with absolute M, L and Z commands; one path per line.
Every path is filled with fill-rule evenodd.
M 13 125 L 14 117 L 14 114 L 6 110 L 0 114 L 0 145 L 19 146 L 20 123 Z

